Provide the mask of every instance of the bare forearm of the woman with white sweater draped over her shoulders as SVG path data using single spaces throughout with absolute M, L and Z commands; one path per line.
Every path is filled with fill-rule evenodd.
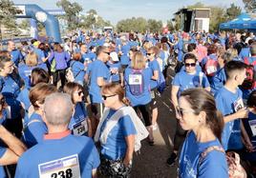
M 135 135 L 128 135 L 125 137 L 126 141 L 126 154 L 123 160 L 123 164 L 128 167 L 130 161 L 133 159 L 134 149 L 135 149 Z

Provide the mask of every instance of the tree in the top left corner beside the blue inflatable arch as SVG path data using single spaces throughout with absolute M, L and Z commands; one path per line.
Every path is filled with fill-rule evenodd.
M 13 2 L 10 0 L 0 1 L 0 39 L 2 40 L 2 26 L 5 26 L 9 30 L 17 30 L 17 24 L 15 22 L 15 14 L 21 13 L 13 6 Z

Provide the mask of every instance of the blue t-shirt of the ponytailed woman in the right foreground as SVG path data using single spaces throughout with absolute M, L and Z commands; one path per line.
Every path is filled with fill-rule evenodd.
M 228 168 L 224 152 L 212 150 L 207 153 L 201 163 L 201 153 L 209 147 L 222 147 L 218 139 L 201 143 L 197 141 L 196 135 L 190 131 L 183 143 L 179 160 L 179 177 L 201 178 L 222 177 L 228 178 Z

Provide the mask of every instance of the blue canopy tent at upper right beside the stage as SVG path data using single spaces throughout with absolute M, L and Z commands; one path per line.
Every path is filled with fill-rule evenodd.
M 247 13 L 240 14 L 237 18 L 222 23 L 220 25 L 221 30 L 249 30 L 251 29 L 252 18 Z

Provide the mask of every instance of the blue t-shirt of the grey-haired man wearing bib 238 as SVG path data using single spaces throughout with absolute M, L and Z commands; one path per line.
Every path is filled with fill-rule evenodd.
M 79 177 L 92 177 L 92 169 L 97 168 L 99 162 L 91 138 L 69 134 L 60 139 L 44 139 L 42 143 L 23 153 L 17 164 L 15 178 L 39 178 L 39 169 L 42 174 L 50 171 L 49 176 L 52 177 L 53 173 L 60 175 L 59 169 L 64 168 L 64 163 L 71 167 L 64 174 L 75 175 L 75 168 L 79 167 Z M 78 177 L 77 174 L 75 177 Z

